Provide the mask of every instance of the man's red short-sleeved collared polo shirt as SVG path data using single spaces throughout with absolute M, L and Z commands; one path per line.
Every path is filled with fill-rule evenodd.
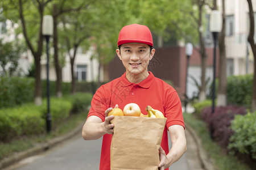
M 112 82 L 102 85 L 92 99 L 89 116 L 98 116 L 105 121 L 105 111 L 110 107 L 123 109 L 128 103 L 137 103 L 143 114 L 147 114 L 146 107 L 158 109 L 167 118 L 161 146 L 168 154 L 167 129 L 172 125 L 184 126 L 181 102 L 177 92 L 163 80 L 156 78 L 151 72 L 142 82 L 135 84 L 127 80 L 125 74 Z M 102 139 L 100 170 L 110 169 L 110 143 L 112 135 L 105 134 Z M 167 168 L 168 169 L 168 168 Z

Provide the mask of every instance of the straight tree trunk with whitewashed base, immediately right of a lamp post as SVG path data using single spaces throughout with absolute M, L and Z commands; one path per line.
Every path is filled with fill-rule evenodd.
M 219 60 L 219 81 L 218 81 L 218 95 L 217 106 L 226 105 L 226 46 L 225 46 L 225 0 L 222 0 L 222 29 L 219 36 L 218 46 L 220 49 Z

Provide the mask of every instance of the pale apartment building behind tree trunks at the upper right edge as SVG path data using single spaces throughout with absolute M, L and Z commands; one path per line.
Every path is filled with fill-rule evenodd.
M 222 1 L 218 1 L 222 10 Z M 256 11 L 256 1 L 253 0 Z M 244 0 L 225 0 L 227 75 L 253 73 L 253 53 L 247 42 L 249 8 Z M 256 13 L 254 13 L 256 18 Z M 256 19 L 255 19 L 256 20 Z

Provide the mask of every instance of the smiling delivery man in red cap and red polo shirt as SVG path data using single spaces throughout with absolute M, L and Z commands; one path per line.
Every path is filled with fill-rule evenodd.
M 103 136 L 100 169 L 110 169 L 110 143 L 114 125 L 108 116 L 113 107 L 123 109 L 128 103 L 137 103 L 146 108 L 151 105 L 167 118 L 160 153 L 159 169 L 168 169 L 186 151 L 184 121 L 177 92 L 163 80 L 147 70 L 148 63 L 155 54 L 150 29 L 145 25 L 131 24 L 123 27 L 118 37 L 117 56 L 126 72 L 117 79 L 101 86 L 92 99 L 92 108 L 82 129 L 85 140 Z M 143 114 L 147 114 L 146 111 Z M 168 148 L 168 132 L 172 147 Z

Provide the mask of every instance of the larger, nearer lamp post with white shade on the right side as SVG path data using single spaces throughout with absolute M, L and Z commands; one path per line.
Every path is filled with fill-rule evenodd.
M 221 31 L 221 12 L 213 10 L 210 13 L 210 32 L 213 35 L 214 49 L 213 49 L 213 84 L 212 84 L 212 114 L 215 110 L 215 78 L 216 78 L 216 46 L 218 40 L 218 33 Z M 213 127 L 210 125 L 210 137 L 213 138 Z

